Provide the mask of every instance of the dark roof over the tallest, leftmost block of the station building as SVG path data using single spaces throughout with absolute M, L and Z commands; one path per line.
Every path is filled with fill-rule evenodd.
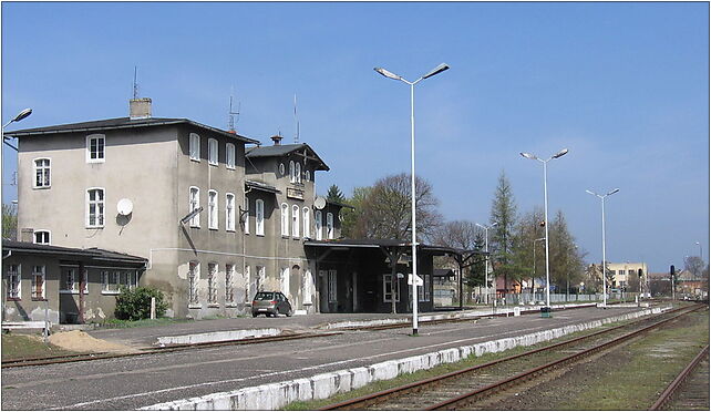
M 216 127 L 206 126 L 204 124 L 193 122 L 188 119 L 166 119 L 166 117 L 147 117 L 147 119 L 134 119 L 131 117 L 116 117 L 116 119 L 106 119 L 100 121 L 91 122 L 81 122 L 81 123 L 68 123 L 68 124 L 58 124 L 53 126 L 45 127 L 34 127 L 34 128 L 22 128 L 12 132 L 4 132 L 6 136 L 9 137 L 25 137 L 25 136 L 40 136 L 47 134 L 55 133 L 71 133 L 71 132 L 93 132 L 93 131 L 103 131 L 103 130 L 115 130 L 115 128 L 133 128 L 133 127 L 148 127 L 148 126 L 164 126 L 173 124 L 189 124 L 192 126 L 209 131 L 213 133 L 220 134 L 223 136 L 233 137 L 245 143 L 257 144 L 259 141 L 254 138 L 245 137 L 236 133 L 229 133 Z

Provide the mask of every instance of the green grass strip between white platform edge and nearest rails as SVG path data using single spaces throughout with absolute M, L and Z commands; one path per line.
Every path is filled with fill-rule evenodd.
M 533 349 L 537 349 L 537 348 L 549 346 L 549 344 L 555 343 L 555 342 L 561 342 L 561 341 L 570 340 L 573 338 L 583 336 L 583 334 L 588 334 L 588 333 L 591 333 L 591 332 L 595 332 L 595 331 L 612 328 L 612 327 L 619 326 L 621 323 L 626 323 L 626 322 L 607 323 L 607 325 L 605 325 L 602 327 L 599 327 L 599 328 L 588 329 L 588 330 L 585 330 L 585 331 L 581 331 L 581 332 L 575 332 L 575 333 L 566 334 L 565 337 L 561 337 L 561 338 L 558 338 L 558 339 L 554 339 L 554 340 L 549 340 L 549 341 L 546 341 L 546 342 L 540 342 L 538 344 L 534 344 L 534 346 L 530 346 L 530 347 L 516 347 L 516 348 L 513 348 L 513 349 L 509 349 L 509 350 L 506 350 L 506 351 L 503 351 L 503 352 L 498 352 L 498 353 L 484 353 L 481 357 L 475 357 L 475 356 L 472 354 L 467 359 L 462 360 L 462 361 L 456 362 L 456 363 L 445 363 L 445 364 L 441 364 L 441 365 L 437 365 L 437 367 L 432 368 L 432 369 L 421 370 L 421 371 L 416 371 L 416 372 L 413 372 L 413 373 L 402 374 L 402 375 L 399 375 L 399 377 L 396 377 L 394 379 L 391 379 L 391 380 L 375 381 L 375 382 L 367 384 L 365 387 L 356 389 L 356 390 L 347 392 L 347 393 L 337 394 L 337 395 L 333 395 L 333 396 L 328 398 L 328 399 L 315 400 L 315 401 L 293 402 L 293 403 L 290 403 L 290 404 L 286 405 L 284 408 L 284 410 L 287 410 L 287 411 L 312 411 L 312 410 L 317 410 L 317 409 L 319 409 L 321 406 L 326 406 L 326 405 L 329 405 L 331 403 L 337 403 L 337 402 L 346 401 L 346 400 L 349 400 L 349 399 L 363 396 L 363 395 L 367 395 L 367 394 L 370 394 L 370 393 L 384 391 L 384 390 L 391 389 L 391 388 L 402 387 L 402 385 L 408 384 L 408 383 L 422 381 L 422 380 L 425 380 L 425 379 L 429 379 L 429 378 L 434 378 L 434 377 L 437 377 L 437 375 L 441 375 L 441 374 L 445 374 L 445 373 L 449 373 L 449 372 L 454 372 L 454 371 L 458 371 L 458 370 L 462 370 L 462 369 L 471 368 L 471 367 L 474 367 L 474 365 L 477 365 L 477 364 L 491 362 L 491 361 L 494 361 L 494 360 L 497 360 L 497 359 L 511 357 L 511 356 L 514 356 L 514 354 L 519 354 L 519 353 L 523 353 L 523 352 L 526 352 L 526 351 L 529 351 L 529 350 L 533 350 Z

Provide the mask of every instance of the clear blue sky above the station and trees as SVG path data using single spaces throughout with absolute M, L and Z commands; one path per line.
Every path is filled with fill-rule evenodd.
M 8 131 L 127 115 L 138 95 L 156 117 L 187 117 L 270 144 L 295 137 L 331 167 L 326 194 L 410 171 L 445 219 L 488 223 L 498 176 L 518 213 L 563 210 L 601 260 L 661 272 L 709 256 L 708 2 L 2 2 L 2 122 Z M 6 146 L 2 202 L 17 199 Z M 700 245 L 697 245 L 700 243 Z M 701 248 L 700 248 L 700 247 Z

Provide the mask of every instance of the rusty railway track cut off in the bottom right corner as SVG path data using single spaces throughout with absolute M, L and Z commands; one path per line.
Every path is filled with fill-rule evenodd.
M 707 344 L 667 387 L 649 409 L 709 410 L 709 346 Z

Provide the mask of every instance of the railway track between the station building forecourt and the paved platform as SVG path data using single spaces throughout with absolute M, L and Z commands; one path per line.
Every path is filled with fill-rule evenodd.
M 203 349 L 203 348 L 215 348 L 215 347 L 226 347 L 226 346 L 237 346 L 237 344 L 255 344 L 255 343 L 277 342 L 277 341 L 284 341 L 284 340 L 321 338 L 321 337 L 329 337 L 329 336 L 341 334 L 341 333 L 342 332 L 339 332 L 339 331 L 321 332 L 321 333 L 293 333 L 293 334 L 282 334 L 282 336 L 274 336 L 274 337 L 227 340 L 227 341 L 219 341 L 219 342 L 172 344 L 172 346 L 166 346 L 161 348 L 144 348 L 137 352 L 131 352 L 131 353 L 93 352 L 93 353 L 74 353 L 74 354 L 68 354 L 68 356 L 55 356 L 55 357 L 45 357 L 45 358 L 9 359 L 9 360 L 2 361 L 2 369 L 37 367 L 37 365 L 55 364 L 55 363 L 86 362 L 86 361 L 94 361 L 94 360 L 101 360 L 101 359 L 143 357 L 143 356 L 151 356 L 151 354 L 157 354 L 157 353 L 168 353 L 168 352 L 177 352 L 177 351 Z

